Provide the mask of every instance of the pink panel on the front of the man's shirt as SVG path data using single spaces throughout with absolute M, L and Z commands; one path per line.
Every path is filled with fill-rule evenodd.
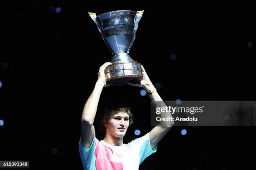
M 122 162 L 113 161 L 121 160 L 120 155 L 114 154 L 107 146 L 100 145 L 97 138 L 95 138 L 95 148 L 96 170 L 123 170 Z

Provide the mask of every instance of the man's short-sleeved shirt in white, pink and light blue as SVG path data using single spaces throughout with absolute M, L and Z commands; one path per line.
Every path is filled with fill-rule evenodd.
M 151 149 L 149 133 L 122 146 L 110 145 L 94 138 L 90 148 L 84 148 L 79 141 L 79 153 L 84 170 L 138 170 L 139 165 L 149 155 L 156 152 Z

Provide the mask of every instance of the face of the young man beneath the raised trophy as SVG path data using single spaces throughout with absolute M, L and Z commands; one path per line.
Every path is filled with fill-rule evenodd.
M 129 127 L 129 115 L 125 112 L 118 112 L 110 117 L 106 130 L 113 137 L 124 137 Z

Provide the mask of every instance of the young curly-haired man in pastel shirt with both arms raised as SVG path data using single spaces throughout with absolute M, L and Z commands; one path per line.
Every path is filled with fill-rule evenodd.
M 102 121 L 106 129 L 105 138 L 101 141 L 97 140 L 93 122 L 102 89 L 109 86 L 106 83 L 104 74 L 104 70 L 108 65 L 111 65 L 111 63 L 106 62 L 100 67 L 94 90 L 84 106 L 81 119 L 79 153 L 84 170 L 138 170 L 143 160 L 156 152 L 157 143 L 168 133 L 174 122 L 160 122 L 159 125 L 156 125 L 143 137 L 124 144 L 123 137 L 130 125 L 131 110 L 128 108 L 113 108 L 108 111 L 109 114 Z M 151 90 L 152 93 L 149 95 L 151 100 L 162 101 L 145 69 L 143 66 L 141 68 L 143 80 L 138 83 L 128 84 L 143 87 L 146 92 Z M 165 107 L 164 102 L 158 102 L 156 105 Z M 172 115 L 163 112 L 160 116 L 167 117 Z

